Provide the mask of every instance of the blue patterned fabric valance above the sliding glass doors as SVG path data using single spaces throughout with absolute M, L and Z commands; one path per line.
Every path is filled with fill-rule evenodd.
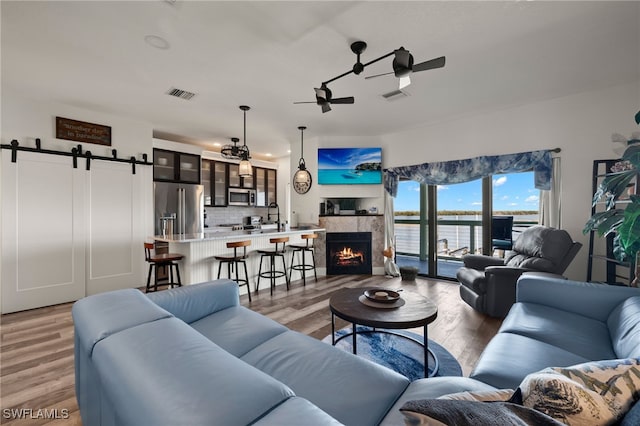
M 427 185 L 448 185 L 469 182 L 494 174 L 533 170 L 535 187 L 549 190 L 551 161 L 551 151 L 544 150 L 391 167 L 384 170 L 384 189 L 395 197 L 401 178 Z

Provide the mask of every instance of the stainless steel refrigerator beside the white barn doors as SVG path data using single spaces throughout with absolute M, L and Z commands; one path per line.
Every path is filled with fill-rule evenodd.
M 198 234 L 204 223 L 204 187 L 154 182 L 155 234 Z

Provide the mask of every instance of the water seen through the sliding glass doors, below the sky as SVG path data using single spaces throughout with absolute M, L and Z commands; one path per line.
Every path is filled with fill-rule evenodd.
M 396 216 L 396 220 L 419 220 L 418 216 Z M 438 225 L 438 253 L 460 257 L 467 253 L 482 252 L 482 216 L 439 216 L 439 221 L 477 221 L 477 225 Z M 514 220 L 514 235 L 518 236 L 518 222 L 536 222 L 538 215 L 516 215 Z M 529 225 L 526 225 L 529 226 Z M 525 227 L 526 227 L 525 226 Z M 420 253 L 420 228 L 417 224 L 395 224 L 396 251 L 398 253 Z

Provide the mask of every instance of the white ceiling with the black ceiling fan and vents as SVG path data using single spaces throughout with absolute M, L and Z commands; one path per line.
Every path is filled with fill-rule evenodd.
M 640 79 L 640 2 L 10 2 L 2 14 L 2 85 L 25 96 L 152 123 L 191 143 L 242 138 L 254 157 L 305 137 L 371 136 Z M 161 36 L 170 48 L 145 43 Z M 323 114 L 314 87 L 404 46 L 447 58 L 397 88 L 391 58 L 329 87 L 355 96 Z M 190 101 L 164 93 L 176 87 Z

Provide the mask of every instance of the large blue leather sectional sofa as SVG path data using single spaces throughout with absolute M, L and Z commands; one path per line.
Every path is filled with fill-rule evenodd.
M 85 425 L 401 425 L 410 400 L 513 389 L 544 367 L 640 357 L 639 290 L 526 275 L 466 378 L 410 383 L 241 306 L 229 280 L 89 296 L 73 319 Z

